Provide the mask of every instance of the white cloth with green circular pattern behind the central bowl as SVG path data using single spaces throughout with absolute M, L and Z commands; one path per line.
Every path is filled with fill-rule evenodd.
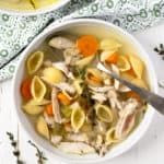
M 0 13 L 0 67 L 31 43 L 50 17 L 59 23 L 58 20 L 63 21 L 66 17 L 91 15 L 129 32 L 145 30 L 164 20 L 164 0 L 72 0 L 58 11 L 37 16 Z M 0 81 L 13 75 L 19 58 L 0 69 Z

